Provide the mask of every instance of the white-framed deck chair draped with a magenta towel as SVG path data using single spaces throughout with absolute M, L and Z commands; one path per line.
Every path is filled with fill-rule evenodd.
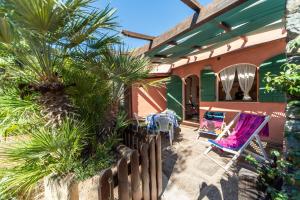
M 238 121 L 237 121 L 238 120 Z M 235 124 L 237 121 L 236 127 L 231 133 L 229 131 L 230 127 Z M 259 134 L 261 133 L 263 136 L 268 136 L 269 129 L 268 129 L 268 122 L 270 121 L 270 116 L 259 116 L 253 114 L 246 114 L 246 113 L 239 113 L 235 116 L 235 118 L 225 127 L 223 132 L 217 137 L 216 140 L 208 140 L 211 145 L 210 147 L 204 152 L 205 155 L 208 156 L 208 153 L 211 151 L 213 147 L 221 149 L 227 153 L 234 154 L 233 158 L 228 162 L 228 164 L 224 167 L 218 161 L 214 160 L 210 156 L 212 161 L 217 163 L 219 166 L 224 168 L 226 171 L 229 167 L 233 164 L 233 162 L 244 152 L 247 151 L 246 148 L 250 144 L 250 142 L 256 139 L 259 149 L 261 150 L 263 156 L 255 154 L 253 152 L 248 153 L 252 154 L 253 156 L 268 160 L 267 154 L 263 148 L 261 143 Z M 228 137 L 223 138 L 223 136 L 228 133 Z

